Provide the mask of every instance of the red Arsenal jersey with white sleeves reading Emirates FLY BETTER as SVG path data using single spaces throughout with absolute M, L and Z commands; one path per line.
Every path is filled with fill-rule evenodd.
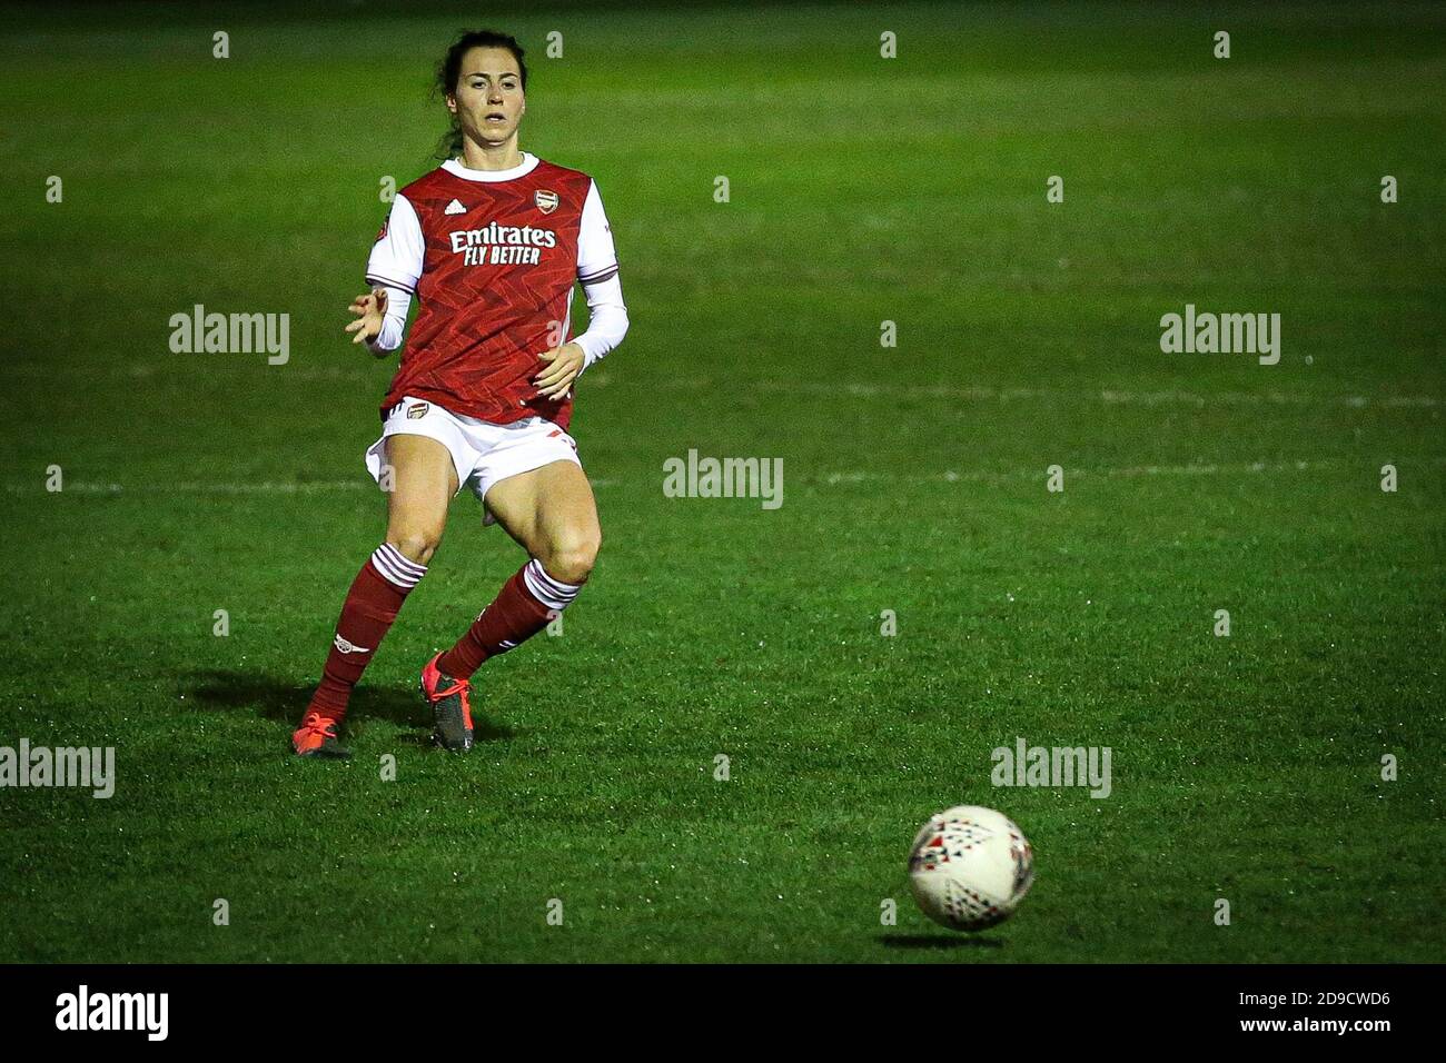
M 538 396 L 538 354 L 573 338 L 573 285 L 616 273 L 602 197 L 581 171 L 523 152 L 512 169 L 448 161 L 406 185 L 366 272 L 421 304 L 383 419 L 415 395 L 493 424 L 538 415 L 567 428 L 573 399 Z

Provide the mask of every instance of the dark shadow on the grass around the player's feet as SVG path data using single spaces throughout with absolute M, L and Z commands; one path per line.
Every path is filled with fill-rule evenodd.
M 268 720 L 281 720 L 295 726 L 314 690 L 315 684 L 311 683 L 286 683 L 275 675 L 214 668 L 187 675 L 182 693 L 188 699 L 195 699 L 195 704 L 204 712 L 250 710 Z M 432 743 L 431 714 L 422 704 L 421 696 L 414 690 L 359 687 L 351 694 L 347 719 L 388 720 L 399 727 L 425 729 L 415 735 L 406 735 L 402 740 L 422 746 Z M 496 742 L 513 736 L 515 732 L 510 727 L 473 716 L 476 742 Z

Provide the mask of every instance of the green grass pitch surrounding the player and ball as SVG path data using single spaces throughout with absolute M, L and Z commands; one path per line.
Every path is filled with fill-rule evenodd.
M 0 745 L 119 762 L 111 800 L 0 790 L 0 959 L 1440 957 L 1440 9 L 496 16 L 523 146 L 597 178 L 623 263 L 574 421 L 603 555 L 442 755 L 416 668 L 522 560 L 458 498 L 356 759 L 299 762 L 383 529 L 392 366 L 343 308 L 474 17 L 27 9 L 0 40 Z M 195 302 L 289 312 L 289 363 L 172 354 Z M 1280 312 L 1280 364 L 1161 354 L 1186 302 Z M 781 457 L 782 508 L 664 498 L 690 447 Z M 1109 746 L 1111 797 L 992 788 L 1017 736 Z M 908 898 L 956 803 L 1038 858 L 985 944 Z

